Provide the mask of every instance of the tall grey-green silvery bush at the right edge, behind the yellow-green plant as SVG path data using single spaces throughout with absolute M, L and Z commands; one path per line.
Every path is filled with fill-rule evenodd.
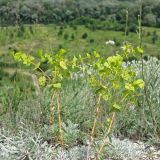
M 155 57 L 148 57 L 146 61 L 132 61 L 125 65 L 133 66 L 139 78 L 143 72 L 145 90 L 138 97 L 139 107 L 132 106 L 119 114 L 116 132 L 131 138 L 147 141 L 151 138 L 157 141 L 160 131 L 160 61 Z

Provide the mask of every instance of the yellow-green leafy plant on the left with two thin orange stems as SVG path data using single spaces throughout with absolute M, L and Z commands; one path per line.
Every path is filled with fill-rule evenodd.
M 61 88 L 61 81 L 65 76 L 69 76 L 69 71 L 67 71 L 67 63 L 68 61 L 64 60 L 63 54 L 65 51 L 62 49 L 57 54 L 45 54 L 42 52 L 38 52 L 38 58 L 35 59 L 33 56 L 26 55 L 22 52 L 12 53 L 15 60 L 19 62 L 23 62 L 25 65 L 32 65 L 35 68 L 39 69 L 42 72 L 42 75 L 39 77 L 39 83 L 41 86 L 47 85 L 51 92 L 53 92 L 51 102 L 50 102 L 50 125 L 53 123 L 53 100 L 56 97 L 57 111 L 58 111 L 58 122 L 59 122 L 59 142 L 63 146 L 63 138 L 62 138 L 62 122 L 61 122 L 61 113 L 60 113 L 60 99 L 59 99 L 59 89 Z M 41 68 L 40 64 L 46 61 L 50 66 L 50 74 L 47 75 Z M 47 82 L 47 83 L 46 83 Z

